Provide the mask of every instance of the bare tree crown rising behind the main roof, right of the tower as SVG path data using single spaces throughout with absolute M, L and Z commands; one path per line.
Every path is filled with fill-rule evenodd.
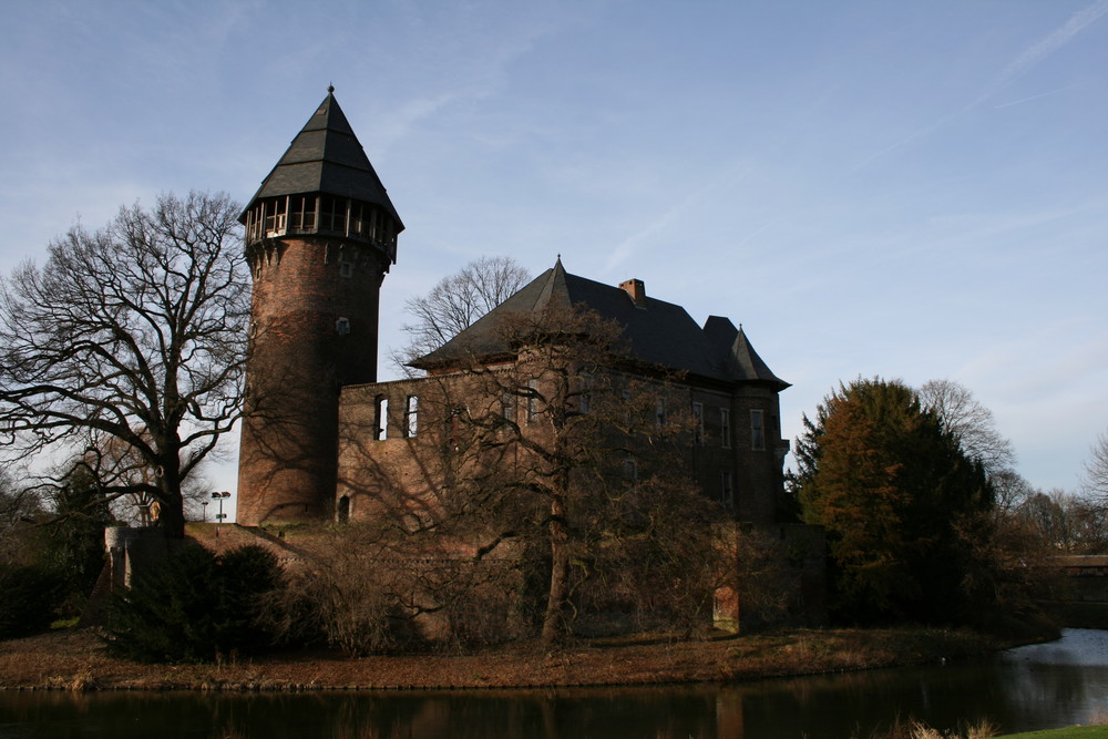
M 531 273 L 512 257 L 481 257 L 443 277 L 427 295 L 410 298 L 404 310 L 412 317 L 403 330 L 409 343 L 391 358 L 398 368 L 428 355 L 502 304 L 531 279 Z

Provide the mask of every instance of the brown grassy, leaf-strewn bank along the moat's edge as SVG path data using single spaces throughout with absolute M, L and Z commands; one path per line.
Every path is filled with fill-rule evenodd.
M 489 688 L 745 680 L 955 660 L 993 638 L 940 629 L 833 629 L 675 642 L 581 643 L 552 654 L 515 645 L 478 654 L 347 658 L 298 651 L 218 665 L 141 665 L 107 656 L 92 630 L 0 642 L 0 688 L 318 690 Z

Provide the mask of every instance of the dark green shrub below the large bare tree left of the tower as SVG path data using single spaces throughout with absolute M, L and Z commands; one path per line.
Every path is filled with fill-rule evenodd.
M 211 661 L 273 644 L 258 624 L 264 594 L 280 586 L 276 557 L 260 546 L 217 556 L 187 546 L 137 577 L 112 604 L 105 639 L 141 661 Z

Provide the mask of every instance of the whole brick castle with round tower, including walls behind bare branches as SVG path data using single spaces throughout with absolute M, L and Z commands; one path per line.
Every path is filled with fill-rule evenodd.
M 822 608 L 821 535 L 788 523 L 778 396 L 789 384 L 730 320 L 699 326 L 640 280 L 604 285 L 558 258 L 412 361 L 420 377 L 378 382 L 380 288 L 404 225 L 332 88 L 240 220 L 254 281 L 240 525 L 391 516 L 418 527 L 465 507 L 451 499 L 476 485 L 534 491 L 524 478 L 546 474 L 542 484 L 627 489 L 664 465 L 714 502 L 718 520 L 704 525 L 757 526 L 807 552 L 793 563 L 801 608 Z M 638 421 L 604 427 L 618 407 Z M 592 429 L 577 440 L 591 455 L 565 443 L 576 427 Z M 463 540 L 458 556 L 480 546 Z M 720 603 L 718 620 L 736 617 Z

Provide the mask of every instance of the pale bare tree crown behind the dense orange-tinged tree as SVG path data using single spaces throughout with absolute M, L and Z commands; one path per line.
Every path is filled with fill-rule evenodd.
M 954 433 L 966 456 L 976 459 L 992 479 L 1016 461 L 1012 442 L 996 430 L 993 411 L 982 406 L 964 384 L 953 380 L 931 380 L 919 390 L 920 404 L 938 414 Z

